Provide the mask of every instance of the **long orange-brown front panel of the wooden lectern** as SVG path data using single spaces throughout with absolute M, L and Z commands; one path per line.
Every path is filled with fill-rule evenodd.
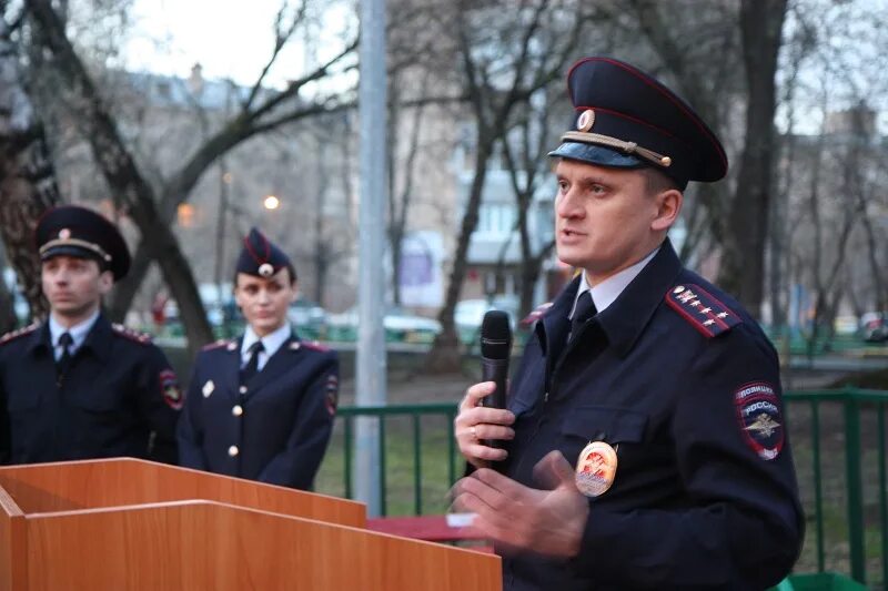
M 501 589 L 500 559 L 491 554 L 212 502 L 28 522 L 33 591 Z

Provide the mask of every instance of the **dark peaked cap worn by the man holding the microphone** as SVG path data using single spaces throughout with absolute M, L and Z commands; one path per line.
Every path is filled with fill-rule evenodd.
M 649 166 L 688 181 L 724 177 L 728 161 L 722 143 L 694 110 L 640 70 L 612 58 L 576 62 L 567 73 L 574 104 L 571 131 L 549 156 L 601 166 Z

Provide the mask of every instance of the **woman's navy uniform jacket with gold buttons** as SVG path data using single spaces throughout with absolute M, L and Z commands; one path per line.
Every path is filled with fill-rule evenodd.
M 180 463 L 307 490 L 335 414 L 335 351 L 290 338 L 240 384 L 241 342 L 198 355 L 179 422 Z

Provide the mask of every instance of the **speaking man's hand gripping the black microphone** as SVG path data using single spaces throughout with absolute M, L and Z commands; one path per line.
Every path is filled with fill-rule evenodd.
M 515 437 L 511 427 L 515 422 L 515 415 L 502 408 L 481 406 L 481 400 L 493 394 L 495 388 L 493 381 L 482 381 L 468 388 L 460 403 L 460 414 L 453 421 L 460 452 L 476 468 L 483 468 L 490 461 L 504 460 L 508 456 L 505 449 L 484 445 L 485 440 L 509 440 Z

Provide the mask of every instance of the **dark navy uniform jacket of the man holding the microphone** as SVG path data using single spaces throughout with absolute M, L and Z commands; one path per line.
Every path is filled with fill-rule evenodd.
M 683 268 L 667 241 L 566 346 L 578 281 L 525 349 L 509 393 L 516 438 L 504 468 L 538 487 L 532 470 L 548 451 L 576 466 L 589 441 L 606 441 L 617 451 L 616 478 L 589 499 L 578 557 L 506 558 L 505 588 L 753 590 L 776 582 L 803 537 L 793 460 L 788 442 L 776 458 L 759 456 L 735 401 L 746 385 L 768 384 L 781 406 L 770 343 L 734 299 Z M 737 324 L 704 336 L 703 325 L 666 302 L 689 284 L 728 306 Z

